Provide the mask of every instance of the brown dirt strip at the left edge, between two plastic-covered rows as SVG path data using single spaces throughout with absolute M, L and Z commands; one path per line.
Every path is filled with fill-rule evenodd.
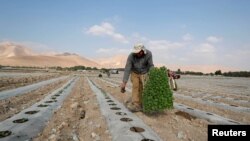
M 13 116 L 14 114 L 17 114 L 21 110 L 26 109 L 27 107 L 40 101 L 41 99 L 46 97 L 49 92 L 61 87 L 68 80 L 69 79 L 60 80 L 29 93 L 0 100 L 0 121 Z

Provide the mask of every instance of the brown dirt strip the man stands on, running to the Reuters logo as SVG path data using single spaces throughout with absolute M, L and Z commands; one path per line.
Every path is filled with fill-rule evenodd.
M 113 87 L 99 79 L 91 79 L 121 103 L 124 103 L 131 95 L 128 92 L 125 94 L 120 93 L 119 87 Z M 196 119 L 176 109 L 158 115 L 145 115 L 142 112 L 137 112 L 135 114 L 149 125 L 164 141 L 207 140 L 208 122 L 206 120 Z

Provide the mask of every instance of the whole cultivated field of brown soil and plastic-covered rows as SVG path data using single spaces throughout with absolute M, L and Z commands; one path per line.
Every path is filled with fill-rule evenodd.
M 181 76 L 174 109 L 147 115 L 124 106 L 122 72 L 99 74 L 0 73 L 0 140 L 206 141 L 208 124 L 250 124 L 249 78 Z

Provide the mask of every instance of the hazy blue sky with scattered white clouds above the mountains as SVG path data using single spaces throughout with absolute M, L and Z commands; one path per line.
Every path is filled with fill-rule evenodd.
M 0 42 L 88 58 L 128 55 L 143 42 L 154 63 L 250 71 L 249 0 L 0 0 Z

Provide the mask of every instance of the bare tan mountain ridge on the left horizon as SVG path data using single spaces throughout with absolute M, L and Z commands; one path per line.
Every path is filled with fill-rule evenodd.
M 0 44 L 0 64 L 10 66 L 61 66 L 71 67 L 83 65 L 88 67 L 100 67 L 94 61 L 77 54 L 63 53 L 57 55 L 45 55 L 32 52 L 31 49 L 11 42 Z

